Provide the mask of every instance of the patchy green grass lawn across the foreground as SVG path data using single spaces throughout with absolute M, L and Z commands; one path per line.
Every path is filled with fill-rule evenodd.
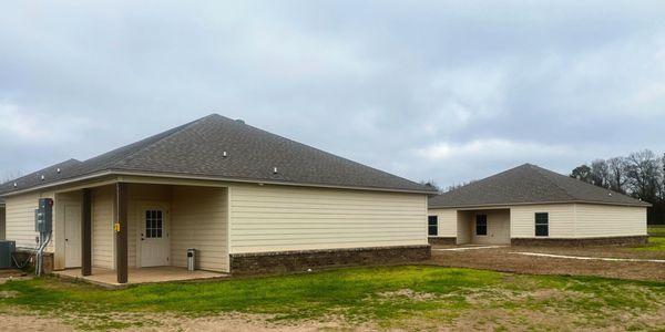
M 665 283 L 421 266 L 146 284 L 114 291 L 42 278 L 0 284 L 0 312 L 16 308 L 57 317 L 79 329 L 160 324 L 158 320 L 146 322 L 143 314 L 239 312 L 266 314 L 277 324 L 337 318 L 348 324 L 408 330 L 657 330 L 665 324 Z

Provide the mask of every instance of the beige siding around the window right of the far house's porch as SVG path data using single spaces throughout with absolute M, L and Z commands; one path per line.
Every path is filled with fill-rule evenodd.
M 575 237 L 575 205 L 521 205 L 510 208 L 511 237 L 535 238 L 535 214 L 548 212 L 550 238 Z

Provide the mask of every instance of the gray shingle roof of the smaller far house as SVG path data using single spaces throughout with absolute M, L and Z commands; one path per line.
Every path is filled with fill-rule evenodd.
M 524 164 L 454 190 L 431 197 L 430 208 L 536 203 L 601 203 L 649 206 L 608 189 Z

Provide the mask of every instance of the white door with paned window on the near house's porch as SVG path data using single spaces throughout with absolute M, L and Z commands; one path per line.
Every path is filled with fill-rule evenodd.
M 171 240 L 166 205 L 142 205 L 139 216 L 141 267 L 168 266 Z

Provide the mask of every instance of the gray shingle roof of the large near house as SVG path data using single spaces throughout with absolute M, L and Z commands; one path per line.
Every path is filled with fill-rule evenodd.
M 57 168 L 61 172 L 57 173 Z M 17 188 L 14 181 L 1 185 L 0 194 L 104 170 L 432 191 L 408 179 L 213 114 L 85 162 L 72 159 L 53 165 L 14 180 Z

